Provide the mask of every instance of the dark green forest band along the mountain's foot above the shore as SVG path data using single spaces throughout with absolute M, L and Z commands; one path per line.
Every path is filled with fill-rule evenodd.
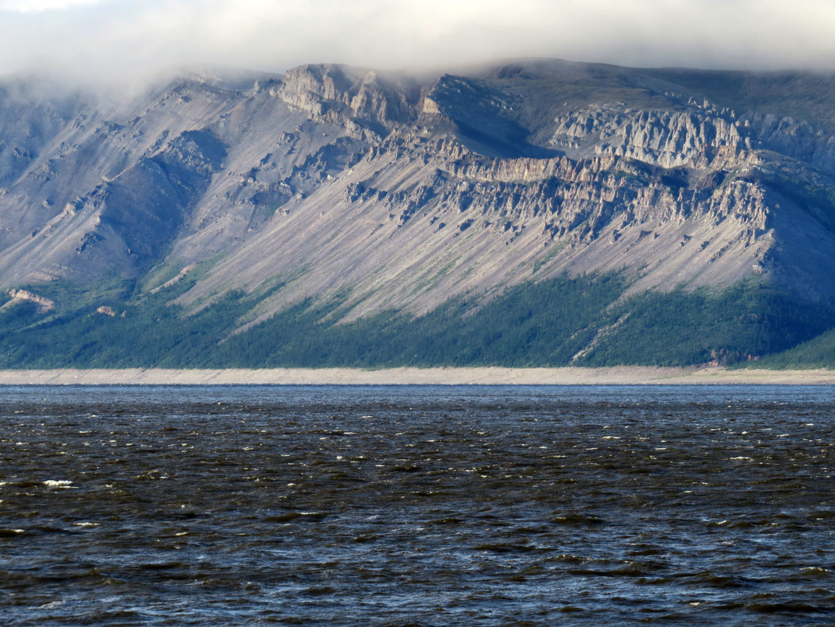
M 559 276 L 454 298 L 426 316 L 339 323 L 343 297 L 297 303 L 241 332 L 262 294 L 229 292 L 198 311 L 171 304 L 189 286 L 30 286 L 56 303 L 45 312 L 5 296 L 0 367 L 835 365 L 835 308 L 753 282 L 624 297 L 617 275 Z M 103 304 L 116 315 L 96 312 Z

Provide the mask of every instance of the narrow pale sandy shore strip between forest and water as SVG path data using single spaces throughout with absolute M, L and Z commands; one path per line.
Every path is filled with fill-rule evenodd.
M 7 370 L 0 385 L 686 385 L 835 384 L 835 370 L 710 368 L 275 368 L 264 370 Z

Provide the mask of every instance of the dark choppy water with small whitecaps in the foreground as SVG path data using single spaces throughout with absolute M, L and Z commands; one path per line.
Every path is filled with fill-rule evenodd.
M 0 388 L 0 624 L 835 624 L 828 387 Z

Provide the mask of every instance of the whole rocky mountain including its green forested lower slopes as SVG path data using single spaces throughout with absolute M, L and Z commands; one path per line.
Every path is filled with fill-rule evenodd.
M 759 359 L 835 326 L 833 119 L 814 72 L 18 75 L 5 365 Z

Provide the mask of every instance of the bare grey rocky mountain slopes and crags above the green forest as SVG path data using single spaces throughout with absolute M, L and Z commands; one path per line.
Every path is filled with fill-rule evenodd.
M 752 107 L 774 78 L 742 77 L 745 98 L 731 78 L 308 65 L 109 106 L 7 86 L 0 285 L 205 262 L 180 302 L 263 291 L 264 317 L 349 291 L 347 319 L 563 272 L 625 271 L 633 291 L 755 280 L 835 296 L 835 94 Z

